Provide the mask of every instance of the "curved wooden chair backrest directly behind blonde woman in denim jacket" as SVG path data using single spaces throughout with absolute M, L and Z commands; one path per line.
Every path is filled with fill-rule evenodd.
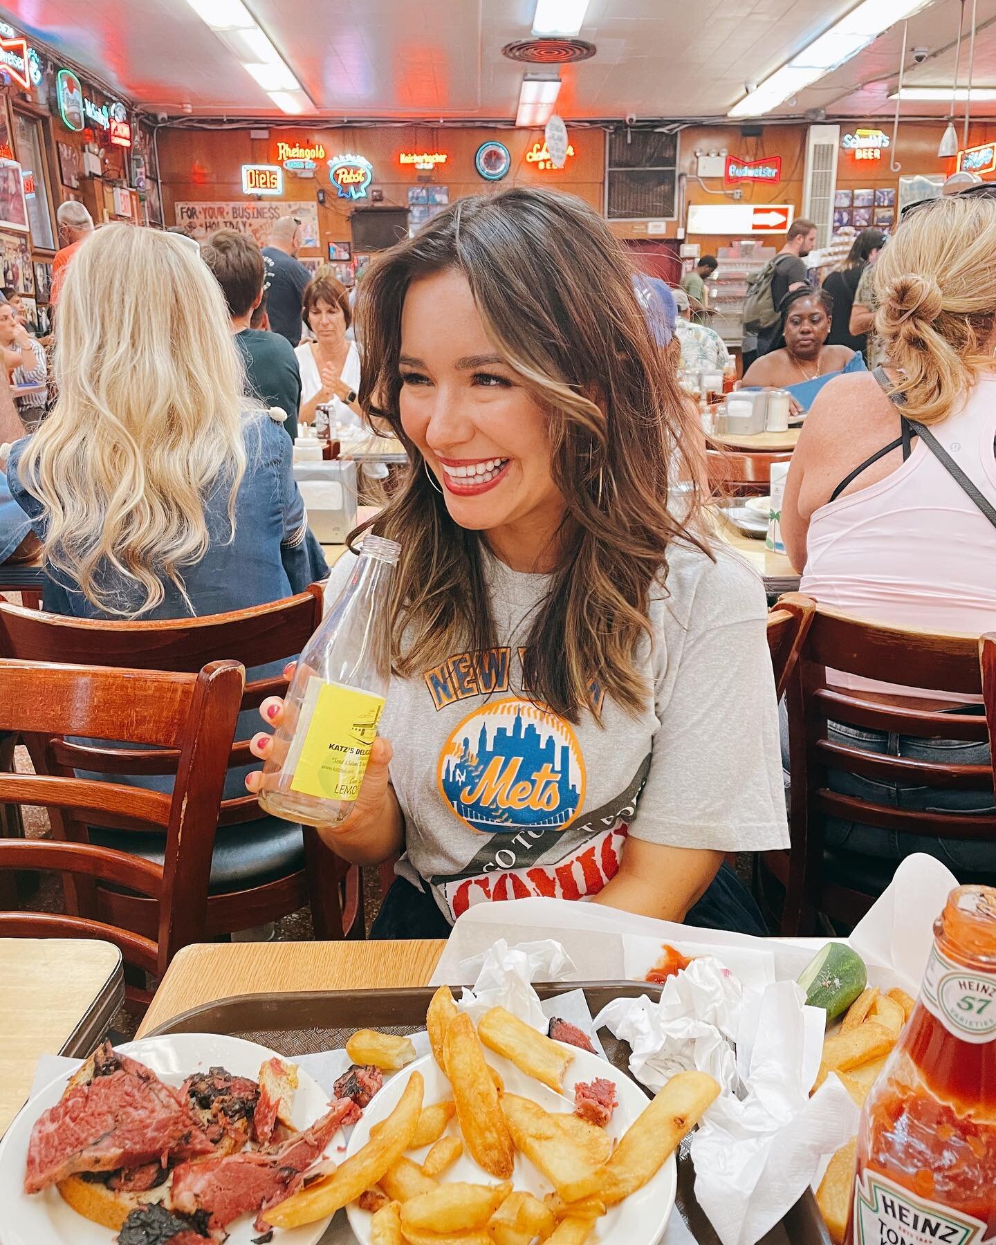
M 188 674 L 195 674 L 209 661 L 232 659 L 249 669 L 296 657 L 321 621 L 321 614 L 320 584 L 312 584 L 298 596 L 230 614 L 136 622 L 63 618 L 0 603 L 0 656 Z M 256 708 L 266 696 L 283 695 L 286 685 L 283 672 L 249 680 L 242 708 Z M 71 761 L 75 749 L 76 745 L 65 745 L 62 759 Z M 134 754 L 129 759 L 133 764 L 139 761 Z M 249 740 L 237 740 L 229 766 L 251 762 Z M 169 773 L 176 768 L 176 757 L 144 751 L 141 763 L 144 769 L 131 772 Z M 76 764 L 86 768 L 82 756 L 76 757 Z M 232 825 L 258 817 L 256 798 L 239 794 L 223 802 L 219 824 Z

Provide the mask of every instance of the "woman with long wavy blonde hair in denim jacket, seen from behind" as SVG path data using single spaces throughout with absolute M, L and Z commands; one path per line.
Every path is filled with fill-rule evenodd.
M 245 397 L 222 291 L 182 239 L 95 233 L 66 273 L 55 374 L 52 412 L 7 463 L 47 610 L 219 614 L 310 581 L 290 439 Z

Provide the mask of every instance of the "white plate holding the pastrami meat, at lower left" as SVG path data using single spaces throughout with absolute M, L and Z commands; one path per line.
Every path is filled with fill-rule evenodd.
M 222 1066 L 240 1077 L 259 1078 L 260 1064 L 273 1058 L 275 1051 L 240 1037 L 219 1033 L 174 1033 L 169 1037 L 148 1037 L 141 1042 L 128 1042 L 116 1047 L 125 1055 L 144 1063 L 167 1084 L 181 1086 L 192 1072 L 207 1072 Z M 0 1208 L 2 1208 L 4 1245 L 111 1245 L 115 1233 L 77 1215 L 66 1205 L 57 1189 L 44 1193 L 24 1191 L 24 1172 L 27 1162 L 27 1143 L 35 1120 L 62 1097 L 68 1081 L 63 1073 L 52 1081 L 21 1109 L 0 1144 Z M 295 1128 L 308 1128 L 325 1114 L 329 1098 L 317 1082 L 304 1071 L 298 1072 L 298 1092 L 294 1096 L 291 1118 Z M 329 1142 L 325 1155 L 339 1158 L 336 1147 L 344 1144 L 340 1129 Z M 229 1245 L 249 1245 L 259 1233 L 253 1228 L 255 1216 L 243 1215 L 229 1228 Z M 315 1245 L 329 1225 L 327 1219 L 306 1228 L 274 1230 L 274 1245 Z

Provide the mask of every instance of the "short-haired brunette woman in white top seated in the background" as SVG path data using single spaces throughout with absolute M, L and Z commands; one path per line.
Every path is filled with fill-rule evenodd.
M 304 322 L 316 341 L 303 341 L 294 354 L 301 372 L 299 423 L 315 422 L 315 407 L 329 406 L 332 435 L 336 426 L 361 428 L 356 395 L 360 390 L 360 352 L 349 341 L 352 321 L 345 285 L 331 268 L 320 268 L 305 286 Z

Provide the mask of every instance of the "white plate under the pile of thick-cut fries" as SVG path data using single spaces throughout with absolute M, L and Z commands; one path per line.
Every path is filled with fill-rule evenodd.
M 619 1106 L 613 1113 L 606 1132 L 614 1138 L 621 1137 L 646 1107 L 649 1101 L 646 1094 L 629 1077 L 596 1055 L 589 1055 L 588 1051 L 579 1051 L 574 1046 L 568 1046 L 565 1050 L 570 1051 L 574 1058 L 570 1061 L 570 1066 L 564 1076 L 563 1096 L 554 1093 L 553 1089 L 548 1089 L 539 1081 L 528 1077 L 514 1063 L 502 1058 L 502 1056 L 496 1055 L 493 1051 L 488 1051 L 487 1056 L 488 1063 L 500 1072 L 505 1089 L 509 1093 L 519 1094 L 523 1098 L 532 1098 L 544 1111 L 549 1112 L 565 1112 L 569 1114 L 574 1111 L 574 1086 L 578 1081 L 594 1081 L 595 1077 L 604 1077 L 608 1081 L 615 1082 Z M 355 1154 L 361 1145 L 365 1145 L 370 1138 L 371 1125 L 390 1114 L 412 1072 L 421 1072 L 425 1078 L 426 1093 L 423 1102 L 426 1106 L 439 1102 L 443 1098 L 453 1097 L 449 1082 L 439 1071 L 433 1057 L 427 1055 L 421 1059 L 416 1059 L 415 1063 L 410 1063 L 407 1068 L 403 1068 L 392 1077 L 371 1101 L 360 1123 L 352 1130 L 347 1154 Z M 447 1132 L 456 1132 L 456 1122 L 451 1122 Z M 428 1147 L 408 1152 L 408 1157 L 415 1158 L 420 1163 L 426 1154 L 428 1154 Z M 479 1168 L 466 1150 L 441 1179 L 443 1184 L 449 1180 L 468 1180 L 471 1184 L 500 1183 L 494 1177 L 488 1175 L 483 1168 Z M 515 1154 L 515 1170 L 512 1175 L 512 1183 L 515 1189 L 534 1193 L 538 1198 L 543 1198 L 544 1194 L 553 1190 L 550 1182 L 540 1175 L 527 1158 L 518 1153 Z M 595 1235 L 591 1238 L 591 1241 L 625 1241 L 625 1245 L 656 1245 L 667 1226 L 671 1208 L 675 1204 L 676 1190 L 677 1165 L 672 1154 L 649 1184 L 645 1184 L 642 1189 L 639 1189 L 618 1206 L 613 1206 L 606 1215 L 598 1220 Z M 351 1203 L 346 1208 L 346 1214 L 360 1245 L 370 1245 L 371 1216 L 367 1211 L 360 1210 L 356 1203 Z

